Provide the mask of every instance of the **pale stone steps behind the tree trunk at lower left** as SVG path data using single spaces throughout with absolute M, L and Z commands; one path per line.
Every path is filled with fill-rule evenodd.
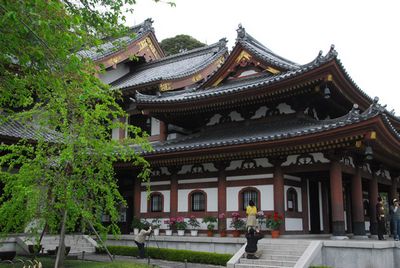
M 27 245 L 33 244 L 29 239 L 25 241 Z M 56 235 L 45 235 L 42 239 L 43 252 L 46 253 L 48 250 L 54 250 L 59 243 L 59 236 Z M 66 235 L 65 245 L 71 247 L 69 254 L 82 254 L 94 253 L 96 251 L 97 243 L 90 236 L 87 235 Z

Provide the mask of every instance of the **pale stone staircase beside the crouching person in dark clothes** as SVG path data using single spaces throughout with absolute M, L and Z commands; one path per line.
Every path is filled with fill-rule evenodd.
M 247 259 L 243 255 L 235 268 L 266 267 L 286 268 L 295 267 L 310 241 L 291 239 L 262 239 L 258 242 L 259 259 Z

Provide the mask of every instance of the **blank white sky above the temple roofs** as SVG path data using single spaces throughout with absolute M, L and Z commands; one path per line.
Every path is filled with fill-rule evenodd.
M 137 0 L 129 26 L 154 20 L 159 41 L 188 34 L 212 44 L 234 45 L 241 23 L 266 47 L 304 64 L 335 44 L 356 84 L 400 114 L 399 0 L 175 0 L 176 7 Z

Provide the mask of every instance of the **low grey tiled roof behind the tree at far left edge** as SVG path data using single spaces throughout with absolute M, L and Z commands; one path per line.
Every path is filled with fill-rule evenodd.
M 4 117 L 3 117 L 4 118 Z M 60 134 L 45 128 L 40 128 L 29 123 L 22 124 L 12 119 L 0 121 L 0 137 L 8 139 L 44 139 L 47 142 L 59 141 Z

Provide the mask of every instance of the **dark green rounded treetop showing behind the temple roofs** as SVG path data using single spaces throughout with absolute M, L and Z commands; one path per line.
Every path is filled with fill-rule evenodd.
M 205 44 L 191 37 L 190 35 L 180 34 L 175 37 L 162 40 L 160 46 L 164 50 L 165 54 L 169 56 L 186 50 L 204 47 Z

